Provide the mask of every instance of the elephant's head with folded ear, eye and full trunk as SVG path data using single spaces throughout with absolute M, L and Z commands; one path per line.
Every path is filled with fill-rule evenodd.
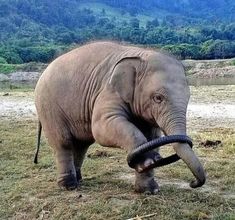
M 136 116 L 160 127 L 166 136 L 186 135 L 190 91 L 181 62 L 160 53 L 145 60 L 125 58 L 115 66 L 112 82 Z M 191 147 L 182 143 L 173 147 L 196 177 L 190 186 L 202 186 L 205 172 Z

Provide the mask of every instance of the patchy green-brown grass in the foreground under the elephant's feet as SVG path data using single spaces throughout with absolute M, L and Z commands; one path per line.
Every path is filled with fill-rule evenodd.
M 235 160 L 229 147 L 234 143 L 233 130 L 208 130 L 194 136 L 196 142 L 219 134 L 224 137 L 218 149 L 195 145 L 208 173 L 204 187 L 181 187 L 179 183 L 187 183 L 192 175 L 184 163 L 177 162 L 156 170 L 161 192 L 149 196 L 134 193 L 126 153 L 99 145 L 88 151 L 81 188 L 60 190 L 53 153 L 44 137 L 39 164 L 33 164 L 36 127 L 34 120 L 1 119 L 1 219 L 128 219 L 147 215 L 152 217 L 146 219 L 235 219 L 231 196 L 235 194 Z M 106 153 L 97 156 L 97 151 Z

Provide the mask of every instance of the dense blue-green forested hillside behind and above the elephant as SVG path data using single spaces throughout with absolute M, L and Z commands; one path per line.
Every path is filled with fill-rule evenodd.
M 0 0 L 0 30 L 0 63 L 49 62 L 97 39 L 161 47 L 182 59 L 229 58 L 235 2 Z

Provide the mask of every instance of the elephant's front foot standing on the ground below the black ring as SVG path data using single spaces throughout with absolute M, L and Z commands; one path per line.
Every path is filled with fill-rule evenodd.
M 146 173 L 136 172 L 135 191 L 138 193 L 157 194 L 159 186 L 154 180 L 153 170 Z

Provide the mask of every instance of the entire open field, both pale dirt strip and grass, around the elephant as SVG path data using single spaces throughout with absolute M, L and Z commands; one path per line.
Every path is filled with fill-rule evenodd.
M 235 219 L 235 86 L 191 87 L 191 92 L 188 131 L 207 182 L 191 189 L 193 177 L 179 161 L 156 170 L 161 191 L 153 196 L 134 192 L 124 151 L 96 144 L 87 154 L 81 188 L 60 190 L 44 137 L 39 164 L 33 164 L 33 91 L 1 91 L 0 219 Z M 204 146 L 206 140 L 222 143 Z

